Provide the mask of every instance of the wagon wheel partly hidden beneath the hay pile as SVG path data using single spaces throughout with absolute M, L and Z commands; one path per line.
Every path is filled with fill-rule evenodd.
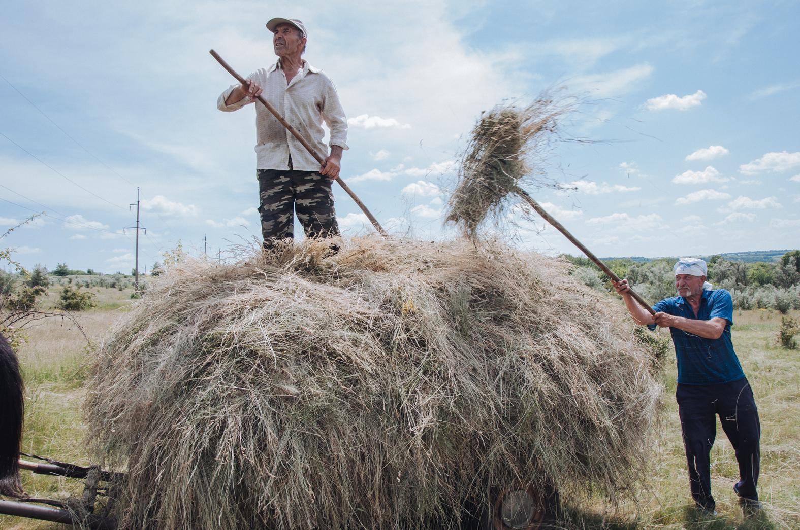
M 558 494 L 542 484 L 495 489 L 492 493 L 492 530 L 550 528 L 558 510 Z

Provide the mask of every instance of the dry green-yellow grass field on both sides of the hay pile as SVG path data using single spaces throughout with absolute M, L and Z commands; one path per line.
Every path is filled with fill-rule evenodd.
M 78 313 L 93 342 L 100 341 L 130 304 L 130 289 L 92 289 L 97 308 Z M 56 290 L 50 289 L 54 299 Z M 800 317 L 794 311 L 793 317 Z M 674 404 L 674 357 L 666 363 L 662 416 L 652 454 L 650 476 L 637 489 L 637 500 L 617 507 L 587 496 L 565 508 L 560 528 L 800 528 L 800 350 L 778 346 L 781 314 L 756 309 L 734 314 L 734 345 L 753 386 L 762 422 L 762 474 L 759 493 L 765 507 L 755 520 L 742 520 L 732 485 L 737 477 L 733 449 L 721 429 L 712 453 L 712 488 L 719 516 L 703 517 L 690 507 L 686 461 Z M 662 332 L 666 333 L 666 331 Z M 70 322 L 40 321 L 18 354 L 26 381 L 26 433 L 23 451 L 88 464 L 81 404 L 87 342 Z M 75 480 L 22 472 L 32 496 L 70 496 Z M 0 528 L 60 528 L 58 525 L 0 516 Z

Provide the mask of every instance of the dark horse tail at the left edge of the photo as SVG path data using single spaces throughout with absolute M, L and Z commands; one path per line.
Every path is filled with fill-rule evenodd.
M 0 494 L 22 493 L 17 460 L 22 442 L 25 396 L 17 355 L 0 335 Z

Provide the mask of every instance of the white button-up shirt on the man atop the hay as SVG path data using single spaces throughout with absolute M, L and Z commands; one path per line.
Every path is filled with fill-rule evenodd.
M 258 82 L 263 89 L 262 98 L 270 102 L 278 114 L 294 126 L 320 156 L 325 158 L 329 153 L 322 141 L 325 137 L 323 122 L 330 129 L 329 145 L 348 149 L 347 118 L 339 103 L 334 83 L 322 70 L 303 61 L 302 70 L 287 85 L 286 74 L 278 61 L 269 70 L 255 71 L 248 79 Z M 237 86 L 230 86 L 219 96 L 219 110 L 231 112 L 256 101 L 242 98 L 226 105 L 225 100 Z M 255 130 L 256 169 L 289 169 L 291 156 L 292 169 L 319 171 L 319 162 L 261 103 L 255 106 Z

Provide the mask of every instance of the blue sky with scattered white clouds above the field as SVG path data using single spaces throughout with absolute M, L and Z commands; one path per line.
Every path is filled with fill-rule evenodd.
M 601 256 L 800 247 L 797 2 L 23 2 L 0 19 L 0 241 L 23 265 L 130 271 L 182 241 L 260 237 L 252 106 L 264 24 L 301 18 L 350 119 L 342 177 L 394 233 L 452 237 L 443 190 L 482 110 L 553 86 L 586 100 L 534 197 Z M 369 225 L 334 189 L 340 225 Z M 12 204 L 13 203 L 13 204 Z M 504 234 L 578 253 L 517 213 Z M 298 230 L 299 232 L 299 230 Z

